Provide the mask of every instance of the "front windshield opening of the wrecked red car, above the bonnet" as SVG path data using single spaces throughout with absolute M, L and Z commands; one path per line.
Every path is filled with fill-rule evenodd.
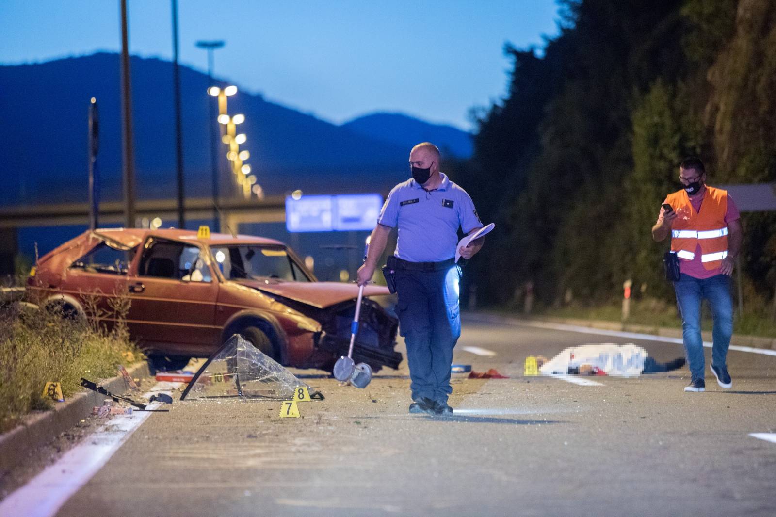
M 228 280 L 276 278 L 288 282 L 310 282 L 285 249 L 255 245 L 211 248 L 218 269 Z

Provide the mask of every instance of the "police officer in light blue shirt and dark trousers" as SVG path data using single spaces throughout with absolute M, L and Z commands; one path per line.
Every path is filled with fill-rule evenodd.
M 474 203 L 464 189 L 439 172 L 439 150 L 429 142 L 410 153 L 412 179 L 390 191 L 372 231 L 369 255 L 359 268 L 359 285 L 372 279 L 388 234 L 399 229 L 394 256 L 397 314 L 407 344 L 413 403 L 411 413 L 452 415 L 447 404 L 452 349 L 461 335 L 459 280 L 455 263 L 458 229 L 471 234 L 481 227 Z M 470 259 L 484 238 L 460 249 Z

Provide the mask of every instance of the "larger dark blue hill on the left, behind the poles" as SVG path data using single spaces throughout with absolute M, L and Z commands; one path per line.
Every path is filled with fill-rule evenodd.
M 172 65 L 131 58 L 137 193 L 175 193 Z M 207 77 L 181 67 L 187 196 L 210 194 Z M 239 85 L 238 85 L 239 86 Z M 88 100 L 100 110 L 102 199 L 121 197 L 120 58 L 93 54 L 42 64 L 0 66 L 0 204 L 86 200 Z M 386 192 L 406 179 L 408 147 L 365 137 L 261 95 L 238 92 L 229 112 L 244 113 L 241 148 L 268 194 Z M 222 192 L 230 188 L 225 149 Z

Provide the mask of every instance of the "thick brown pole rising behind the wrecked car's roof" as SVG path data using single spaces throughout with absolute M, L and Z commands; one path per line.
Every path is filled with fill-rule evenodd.
M 123 120 L 124 224 L 135 227 L 135 164 L 132 138 L 132 88 L 130 38 L 126 28 L 126 0 L 121 0 L 121 114 Z

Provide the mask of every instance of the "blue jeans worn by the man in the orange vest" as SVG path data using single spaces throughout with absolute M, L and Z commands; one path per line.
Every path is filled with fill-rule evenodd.
M 701 337 L 701 300 L 705 298 L 712 309 L 714 327 L 712 336 L 712 364 L 726 366 L 730 338 L 733 336 L 733 297 L 730 296 L 730 277 L 716 275 L 698 279 L 682 275 L 674 282 L 677 305 L 682 320 L 684 352 L 693 377 L 704 378 L 703 338 Z

